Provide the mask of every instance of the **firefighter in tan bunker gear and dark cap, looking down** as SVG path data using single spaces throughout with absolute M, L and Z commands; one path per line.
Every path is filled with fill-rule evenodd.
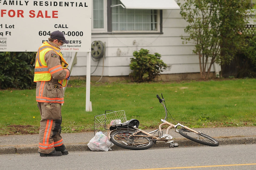
M 67 84 L 70 71 L 62 57 L 61 46 L 69 43 L 62 32 L 50 34 L 35 58 L 36 101 L 41 115 L 39 130 L 40 156 L 67 155 L 61 137 L 61 104 L 64 103 L 63 87 Z M 63 64 L 64 63 L 64 64 Z

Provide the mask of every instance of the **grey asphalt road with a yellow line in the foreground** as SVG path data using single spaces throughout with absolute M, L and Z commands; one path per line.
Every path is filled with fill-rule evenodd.
M 97 169 L 97 170 L 255 170 L 256 144 L 218 147 L 175 147 L 107 152 L 70 152 L 57 157 L 39 154 L 0 155 L 0 169 Z

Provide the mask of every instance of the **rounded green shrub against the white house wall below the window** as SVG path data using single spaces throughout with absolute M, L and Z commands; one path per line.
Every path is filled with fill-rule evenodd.
M 149 50 L 141 49 L 139 52 L 134 51 L 131 58 L 130 77 L 135 82 L 150 82 L 153 81 L 163 69 L 166 69 L 166 64 L 160 59 L 161 55 L 158 53 L 149 54 Z

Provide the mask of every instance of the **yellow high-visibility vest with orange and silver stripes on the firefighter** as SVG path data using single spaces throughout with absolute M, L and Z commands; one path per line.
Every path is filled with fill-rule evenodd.
M 35 57 L 35 76 L 34 76 L 34 82 L 49 82 L 51 80 L 51 73 L 48 70 L 47 63 L 45 61 L 45 54 L 49 52 L 50 50 L 54 50 L 60 57 L 61 61 L 66 64 L 65 67 L 67 68 L 68 63 L 63 58 L 60 49 L 51 46 L 47 41 L 43 42 L 41 47 L 37 51 L 37 55 Z M 65 87 L 67 85 L 67 79 L 64 80 L 58 80 L 58 82 Z

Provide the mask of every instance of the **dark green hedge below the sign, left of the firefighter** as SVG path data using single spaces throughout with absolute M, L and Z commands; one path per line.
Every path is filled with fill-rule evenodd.
M 35 55 L 36 52 L 0 52 L 0 88 L 33 88 Z

